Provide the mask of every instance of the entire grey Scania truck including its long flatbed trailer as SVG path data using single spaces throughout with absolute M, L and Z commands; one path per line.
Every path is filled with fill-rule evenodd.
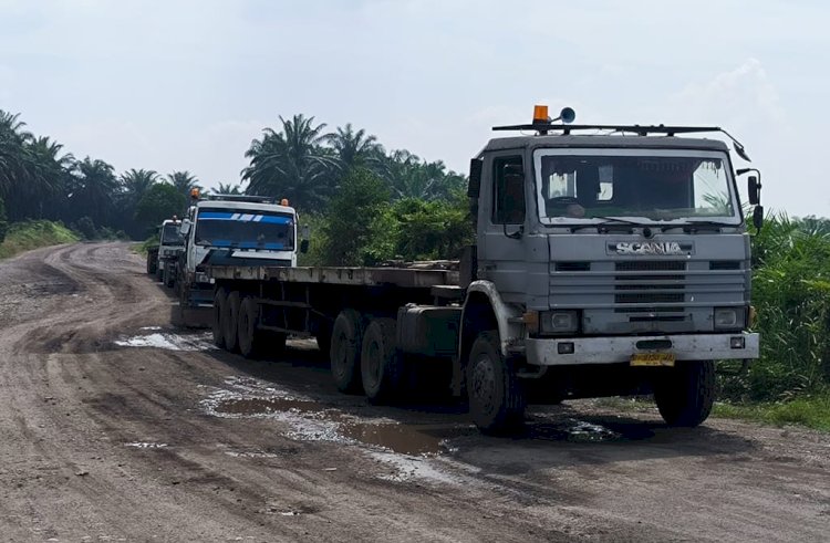
M 718 127 L 560 118 L 538 106 L 531 124 L 495 128 L 525 135 L 471 160 L 477 242 L 456 267 L 206 262 L 216 344 L 252 356 L 281 347 L 273 334 L 315 336 L 338 388 L 372 401 L 396 399 L 412 367 L 446 364 L 486 432 L 520 426 L 529 398 L 632 394 L 653 394 L 668 425 L 699 425 L 716 361 L 758 357 L 736 181 L 757 170 L 688 136 L 719 132 L 748 161 Z M 756 226 L 759 188 L 749 177 Z

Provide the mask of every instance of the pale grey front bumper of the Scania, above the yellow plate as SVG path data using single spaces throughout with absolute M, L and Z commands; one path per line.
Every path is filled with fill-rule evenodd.
M 743 348 L 733 348 L 733 338 L 743 338 Z M 613 364 L 631 361 L 637 353 L 653 353 L 653 348 L 641 348 L 650 343 L 662 342 L 678 361 L 749 359 L 758 357 L 758 334 L 689 334 L 616 337 L 557 337 L 528 338 L 525 348 L 528 364 L 538 366 Z M 665 343 L 670 342 L 670 343 Z M 560 354 L 559 344 L 573 344 L 572 353 Z M 671 346 L 668 346 L 671 344 Z M 640 347 L 637 346 L 640 345 Z

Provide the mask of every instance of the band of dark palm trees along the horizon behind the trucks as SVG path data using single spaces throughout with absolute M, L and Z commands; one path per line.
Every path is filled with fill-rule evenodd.
M 277 126 L 251 142 L 239 182 L 219 184 L 214 192 L 288 198 L 313 221 L 357 170 L 376 180 L 390 202 L 447 202 L 466 184 L 443 161 L 405 149 L 387 153 L 375 136 L 351 124 L 328 133 L 314 117 L 299 114 L 279 117 Z M 7 220 L 49 219 L 89 238 L 122 232 L 142 239 L 164 218 L 181 213 L 193 188 L 203 187 L 186 170 L 118 174 L 100 158 L 79 159 L 49 136 L 28 132 L 19 114 L 0 109 L 0 233 Z

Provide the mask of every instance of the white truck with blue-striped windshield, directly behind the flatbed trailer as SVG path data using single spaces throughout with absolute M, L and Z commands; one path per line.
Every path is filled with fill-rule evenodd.
M 180 317 L 211 307 L 214 281 L 207 264 L 230 267 L 297 265 L 297 212 L 288 200 L 259 196 L 191 194 L 194 203 L 179 227 L 184 249 L 176 263 Z

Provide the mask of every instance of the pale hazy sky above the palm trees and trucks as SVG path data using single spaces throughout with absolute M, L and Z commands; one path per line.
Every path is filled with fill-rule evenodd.
M 768 209 L 830 217 L 828 21 L 819 1 L 0 0 L 0 109 L 76 157 L 215 187 L 280 115 L 466 171 L 491 126 L 571 106 L 722 126 Z

